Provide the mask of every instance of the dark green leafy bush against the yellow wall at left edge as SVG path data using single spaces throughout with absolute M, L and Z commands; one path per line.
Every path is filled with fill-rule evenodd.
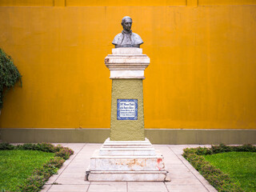
M 13 59 L 0 48 L 0 110 L 2 109 L 4 92 L 14 87 L 18 81 L 22 85 L 22 75 L 18 72 L 17 67 L 14 66 Z

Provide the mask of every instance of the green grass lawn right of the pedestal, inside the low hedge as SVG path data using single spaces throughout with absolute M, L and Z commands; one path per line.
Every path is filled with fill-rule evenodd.
M 228 152 L 203 156 L 223 173 L 229 174 L 234 182 L 239 182 L 242 190 L 256 191 L 256 153 Z

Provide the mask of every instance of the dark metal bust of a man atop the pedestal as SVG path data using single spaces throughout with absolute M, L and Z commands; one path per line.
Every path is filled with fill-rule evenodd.
M 122 33 L 117 34 L 114 37 L 114 40 L 112 44 L 115 48 L 118 47 L 138 47 L 142 45 L 143 41 L 142 38 L 138 35 L 132 32 L 131 25 L 133 21 L 130 17 L 126 16 L 122 18 Z

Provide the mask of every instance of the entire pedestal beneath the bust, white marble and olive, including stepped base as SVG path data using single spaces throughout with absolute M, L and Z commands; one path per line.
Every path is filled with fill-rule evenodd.
M 117 48 L 105 58 L 112 79 L 110 138 L 94 151 L 89 181 L 165 181 L 162 154 L 144 134 L 144 70 L 150 58 L 139 48 Z

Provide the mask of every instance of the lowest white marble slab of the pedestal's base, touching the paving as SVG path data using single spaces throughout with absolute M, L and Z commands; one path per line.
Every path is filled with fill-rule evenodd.
M 92 182 L 163 182 L 164 171 L 86 171 L 86 180 Z

